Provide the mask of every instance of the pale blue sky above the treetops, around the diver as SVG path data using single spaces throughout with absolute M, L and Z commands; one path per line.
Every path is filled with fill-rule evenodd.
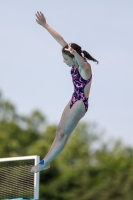
M 73 92 L 70 68 L 61 46 L 36 23 L 36 11 L 66 42 L 99 61 L 90 62 L 90 106 L 82 121 L 133 146 L 133 1 L 0 2 L 0 89 L 18 113 L 39 109 L 49 123 L 58 123 Z

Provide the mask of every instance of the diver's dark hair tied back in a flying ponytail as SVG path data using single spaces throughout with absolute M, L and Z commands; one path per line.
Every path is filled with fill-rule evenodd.
M 82 48 L 78 45 L 78 44 L 75 44 L 75 43 L 71 43 L 71 47 L 81 56 L 82 54 L 84 55 L 85 58 L 87 58 L 88 60 L 92 60 L 93 62 L 96 62 L 98 64 L 98 61 L 93 58 L 87 51 L 85 50 L 82 50 Z M 71 54 L 69 51 L 66 51 L 65 48 L 68 48 L 68 45 L 66 45 L 65 47 L 62 48 L 62 53 L 68 55 L 69 57 L 71 58 L 74 58 L 74 55 Z

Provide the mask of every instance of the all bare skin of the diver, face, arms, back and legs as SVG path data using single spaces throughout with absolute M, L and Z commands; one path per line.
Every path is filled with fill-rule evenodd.
M 53 30 L 47 23 L 46 18 L 40 12 L 36 14 L 36 22 L 42 25 L 48 32 L 55 38 L 55 40 L 62 46 L 66 46 L 67 43 L 64 41 L 62 36 L 60 36 L 55 30 Z M 62 54 L 64 62 L 71 67 L 74 65 L 78 67 L 79 73 L 83 79 L 87 80 L 91 76 L 91 66 L 89 63 L 85 62 L 84 59 L 77 54 L 77 52 L 71 47 L 71 44 L 68 44 L 68 50 L 70 53 L 74 55 L 74 58 L 71 58 L 65 54 Z M 86 85 L 84 89 L 84 93 L 86 97 L 89 97 L 91 87 L 91 81 Z M 80 119 L 85 115 L 85 106 L 82 100 L 78 100 L 70 109 L 70 101 L 66 105 L 60 122 L 58 124 L 56 130 L 55 139 L 47 153 L 47 155 L 43 158 L 43 164 L 37 164 L 36 166 L 32 167 L 31 172 L 37 173 L 42 170 L 46 170 L 50 168 L 50 162 L 64 149 L 71 133 L 77 126 Z

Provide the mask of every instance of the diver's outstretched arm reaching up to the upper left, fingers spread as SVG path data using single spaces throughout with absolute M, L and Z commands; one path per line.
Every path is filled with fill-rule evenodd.
M 37 17 L 36 22 L 38 24 L 40 24 L 41 26 L 43 26 L 45 29 L 47 29 L 47 31 L 53 36 L 53 38 L 62 47 L 64 47 L 64 46 L 67 45 L 67 43 L 65 42 L 65 40 L 63 39 L 63 37 L 47 24 L 46 18 L 44 17 L 44 15 L 43 15 L 42 12 L 37 12 L 36 17 Z

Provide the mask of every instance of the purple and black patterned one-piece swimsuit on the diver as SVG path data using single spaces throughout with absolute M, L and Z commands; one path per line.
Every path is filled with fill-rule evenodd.
M 72 66 L 71 75 L 72 75 L 72 81 L 74 85 L 74 93 L 71 98 L 70 108 L 73 106 L 73 104 L 76 101 L 82 100 L 85 105 L 85 110 L 87 112 L 88 98 L 86 98 L 84 95 L 84 88 L 91 81 L 92 75 L 88 80 L 84 80 L 78 71 L 78 67 L 74 68 L 74 66 Z

